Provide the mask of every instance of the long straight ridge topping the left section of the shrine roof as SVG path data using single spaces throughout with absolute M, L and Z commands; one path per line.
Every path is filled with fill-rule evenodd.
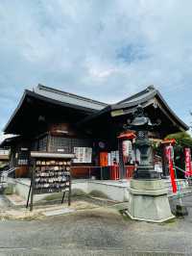
M 70 96 L 70 97 L 73 97 L 73 98 L 82 99 L 82 100 L 85 100 L 85 101 L 88 101 L 88 102 L 92 102 L 92 103 L 102 105 L 104 107 L 108 106 L 107 103 L 104 103 L 104 102 L 101 102 L 101 101 L 98 101 L 98 100 L 90 99 L 90 98 L 80 96 L 80 95 L 77 95 L 77 94 L 74 94 L 74 93 L 71 93 L 71 92 L 50 88 L 50 87 L 47 87 L 47 86 L 43 86 L 41 84 L 38 84 L 36 88 L 38 90 L 48 90 L 48 91 L 51 91 L 51 92 L 54 92 L 54 93 L 63 94 L 65 96 L 67 95 L 67 96 Z M 35 90 L 35 92 L 36 92 L 36 90 Z

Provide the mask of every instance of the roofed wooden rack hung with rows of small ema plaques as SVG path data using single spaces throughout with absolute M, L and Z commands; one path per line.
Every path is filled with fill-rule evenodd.
M 41 193 L 68 192 L 68 205 L 71 204 L 71 160 L 74 154 L 59 154 L 47 152 L 31 152 L 33 169 L 31 186 L 28 193 L 27 205 L 30 202 L 30 211 L 34 207 L 34 195 Z M 30 200 L 31 196 L 31 200 Z

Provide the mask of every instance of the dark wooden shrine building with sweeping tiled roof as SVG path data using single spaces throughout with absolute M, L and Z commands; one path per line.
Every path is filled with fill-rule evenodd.
M 1 147 L 11 149 L 9 166 L 15 167 L 14 177 L 30 176 L 30 155 L 36 151 L 75 154 L 71 168 L 74 179 L 113 179 L 108 168 L 125 164 L 119 163 L 123 158 L 118 138 L 125 133 L 125 124 L 138 105 L 152 122 L 158 122 L 149 132 L 155 143 L 189 129 L 154 86 L 111 105 L 42 85 L 25 90 L 4 128 L 5 135 L 14 136 L 1 143 Z M 163 159 L 159 162 L 162 174 L 168 175 Z M 134 166 L 134 161 L 125 165 Z

